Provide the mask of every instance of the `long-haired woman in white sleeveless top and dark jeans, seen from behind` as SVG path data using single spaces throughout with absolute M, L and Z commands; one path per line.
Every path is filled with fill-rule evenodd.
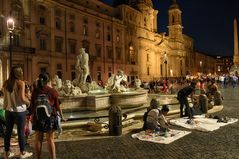
M 26 122 L 27 105 L 30 104 L 29 97 L 25 94 L 25 82 L 22 80 L 23 71 L 21 67 L 12 67 L 9 78 L 4 82 L 4 103 L 6 119 L 6 135 L 4 136 L 4 158 L 14 156 L 10 152 L 10 140 L 14 122 L 17 124 L 18 143 L 20 147 L 20 158 L 30 157 L 32 153 L 25 151 L 24 127 Z

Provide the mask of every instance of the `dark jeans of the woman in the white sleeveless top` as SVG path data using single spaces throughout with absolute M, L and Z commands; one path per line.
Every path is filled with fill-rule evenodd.
M 15 122 L 17 124 L 17 135 L 20 151 L 21 152 L 25 151 L 24 127 L 26 123 L 26 112 L 6 111 L 5 118 L 6 118 L 6 133 L 4 136 L 5 151 L 9 151 L 12 130 Z

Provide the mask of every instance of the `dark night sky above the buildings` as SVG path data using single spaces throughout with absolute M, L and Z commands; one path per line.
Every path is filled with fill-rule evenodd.
M 111 5 L 113 0 L 102 1 Z M 159 10 L 158 32 L 167 32 L 172 0 L 152 1 Z M 182 11 L 183 32 L 194 39 L 195 50 L 208 55 L 233 55 L 233 19 L 239 20 L 239 0 L 177 0 L 177 3 Z

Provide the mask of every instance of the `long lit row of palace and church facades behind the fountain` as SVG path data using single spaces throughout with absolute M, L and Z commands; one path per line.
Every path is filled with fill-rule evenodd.
M 9 64 L 33 82 L 41 71 L 73 80 L 80 48 L 90 75 L 102 81 L 123 70 L 128 82 L 185 77 L 193 72 L 193 39 L 183 34 L 176 0 L 168 9 L 168 33 L 158 33 L 151 0 L 0 0 L 0 85 Z M 7 20 L 14 19 L 12 45 Z M 12 50 L 12 61 L 9 48 Z

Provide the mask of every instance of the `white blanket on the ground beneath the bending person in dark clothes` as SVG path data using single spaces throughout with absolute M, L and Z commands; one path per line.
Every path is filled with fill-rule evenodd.
M 193 124 L 187 123 L 188 118 L 172 119 L 170 120 L 170 124 L 181 126 L 187 129 L 208 132 L 208 131 L 217 130 L 222 126 L 232 124 L 238 121 L 238 119 L 229 118 L 228 121 L 224 123 L 224 122 L 218 122 L 218 119 L 206 118 L 205 115 L 194 116 L 194 117 L 195 119 L 193 119 L 194 120 Z

